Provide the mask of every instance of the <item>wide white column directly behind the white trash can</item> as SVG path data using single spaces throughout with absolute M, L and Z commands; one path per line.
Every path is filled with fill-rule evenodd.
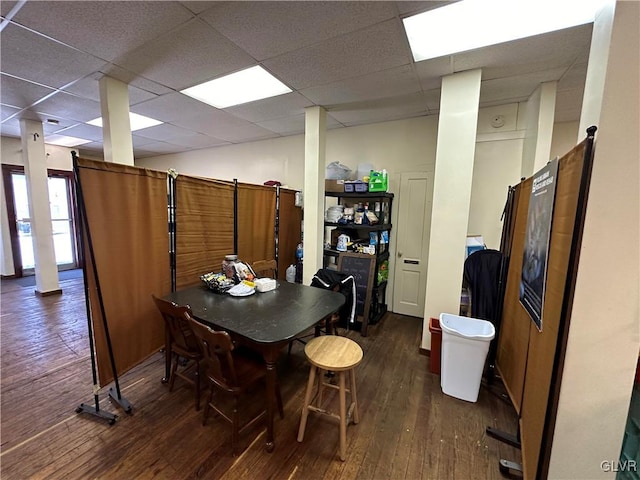
M 460 310 L 481 76 L 481 70 L 470 70 L 442 79 L 422 329 L 426 349 L 429 318 Z

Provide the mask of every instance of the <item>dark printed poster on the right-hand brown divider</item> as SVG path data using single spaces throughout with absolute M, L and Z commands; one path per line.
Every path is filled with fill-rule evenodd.
M 520 303 L 542 331 L 544 292 L 547 282 L 547 257 L 551 238 L 551 220 L 556 195 L 558 160 L 552 160 L 533 176 L 527 212 Z

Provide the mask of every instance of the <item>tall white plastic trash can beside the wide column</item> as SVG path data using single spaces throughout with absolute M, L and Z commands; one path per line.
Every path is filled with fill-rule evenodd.
M 491 322 L 440 314 L 442 365 L 440 386 L 452 397 L 475 402 L 480 392 L 489 344 L 496 335 Z

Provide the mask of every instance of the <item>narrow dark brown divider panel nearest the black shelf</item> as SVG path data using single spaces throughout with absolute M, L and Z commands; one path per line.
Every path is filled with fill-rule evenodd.
M 280 189 L 280 241 L 278 278 L 286 278 L 287 267 L 296 263 L 296 246 L 302 241 L 302 208 L 296 207 L 296 192 Z

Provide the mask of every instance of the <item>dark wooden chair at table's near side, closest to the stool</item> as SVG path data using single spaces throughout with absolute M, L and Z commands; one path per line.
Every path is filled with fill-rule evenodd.
M 207 421 L 210 408 L 231 423 L 231 448 L 235 455 L 238 436 L 265 417 L 266 405 L 264 409 L 254 415 L 253 418 L 247 420 L 241 427 L 238 409 L 240 397 L 246 394 L 259 381 L 266 379 L 266 365 L 255 356 L 238 353 L 240 349 L 235 349 L 227 332 L 216 331 L 203 325 L 191 317 L 188 312 L 184 314 L 184 317 L 188 319 L 193 333 L 200 342 L 200 348 L 204 355 L 205 376 L 210 385 L 210 394 L 204 407 L 202 425 L 205 425 Z M 214 403 L 216 391 L 233 397 L 233 409 L 230 414 Z M 284 418 L 280 387 L 277 384 L 276 402 L 280 417 Z

